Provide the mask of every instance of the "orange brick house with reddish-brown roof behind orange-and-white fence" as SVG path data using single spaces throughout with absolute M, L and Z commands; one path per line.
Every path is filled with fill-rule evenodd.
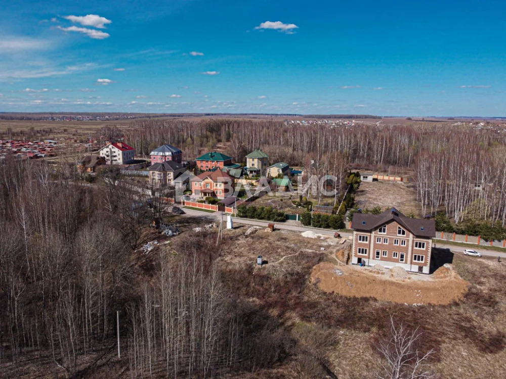
M 191 190 L 201 198 L 224 199 L 234 193 L 234 179 L 220 169 L 205 171 L 190 179 Z

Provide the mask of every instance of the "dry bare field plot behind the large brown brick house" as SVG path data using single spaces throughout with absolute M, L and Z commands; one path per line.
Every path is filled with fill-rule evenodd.
M 379 205 L 385 208 L 395 207 L 406 216 L 410 213 L 420 217 L 420 204 L 416 201 L 413 183 L 393 181 L 363 181 L 355 196 L 359 208 L 374 208 Z

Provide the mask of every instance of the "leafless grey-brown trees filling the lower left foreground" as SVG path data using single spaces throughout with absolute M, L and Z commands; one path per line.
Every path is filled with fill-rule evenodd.
M 254 307 L 225 295 L 214 239 L 186 239 L 139 267 L 133 252 L 153 214 L 133 206 L 128 182 L 111 174 L 90 187 L 68 166 L 14 159 L 0 178 L 0 377 L 37 359 L 85 375 L 115 354 L 116 311 L 127 376 L 208 377 L 277 360 L 258 335 L 275 327 L 270 317 L 255 321 Z

